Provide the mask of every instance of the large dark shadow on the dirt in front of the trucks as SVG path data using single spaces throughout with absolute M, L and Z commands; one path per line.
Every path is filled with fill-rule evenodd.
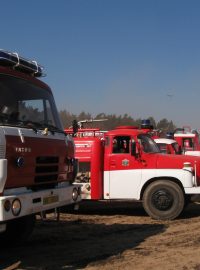
M 1 269 L 20 261 L 19 269 L 81 269 L 111 256 L 121 256 L 146 238 L 160 234 L 163 224 L 95 224 L 39 221 L 30 240 L 0 250 Z M 122 255 L 123 256 L 123 255 Z

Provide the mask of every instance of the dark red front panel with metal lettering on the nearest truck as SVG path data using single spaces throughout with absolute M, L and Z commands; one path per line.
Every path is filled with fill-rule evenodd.
M 59 162 L 55 164 L 46 164 L 49 167 L 53 165 L 58 165 L 57 179 L 48 182 L 41 182 L 40 184 L 72 180 L 67 179 L 66 175 L 66 145 L 64 144 L 64 141 L 51 140 L 46 137 L 44 137 L 44 139 L 25 137 L 25 143 L 22 144 L 19 136 L 6 136 L 6 158 L 8 159 L 8 177 L 5 188 L 23 186 L 28 187 L 38 185 L 39 183 L 37 184 L 34 182 L 34 177 L 36 175 L 41 175 L 41 173 L 35 172 L 36 158 L 41 156 L 59 157 Z M 20 168 L 16 165 L 16 160 L 18 157 L 24 158 L 24 165 Z M 51 175 L 53 173 L 44 172 L 43 174 Z M 69 177 L 71 177 L 71 175 L 69 175 Z

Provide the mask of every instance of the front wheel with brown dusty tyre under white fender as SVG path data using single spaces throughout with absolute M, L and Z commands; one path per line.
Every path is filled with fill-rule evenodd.
M 183 190 L 172 181 L 153 182 L 144 191 L 143 207 L 153 219 L 175 219 L 182 212 L 184 205 Z

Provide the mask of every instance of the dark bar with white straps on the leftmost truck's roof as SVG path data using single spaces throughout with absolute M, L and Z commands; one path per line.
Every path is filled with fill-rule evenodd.
M 8 52 L 1 49 L 0 66 L 9 66 L 34 77 L 41 77 L 45 75 L 43 73 L 43 67 L 38 65 L 36 61 L 25 59 L 19 56 L 18 53 Z

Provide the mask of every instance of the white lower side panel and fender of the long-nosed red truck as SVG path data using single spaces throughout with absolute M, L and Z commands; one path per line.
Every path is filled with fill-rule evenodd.
M 145 183 L 156 178 L 174 178 L 181 181 L 184 188 L 193 187 L 191 172 L 182 169 L 142 169 L 104 172 L 105 199 L 140 199 Z

